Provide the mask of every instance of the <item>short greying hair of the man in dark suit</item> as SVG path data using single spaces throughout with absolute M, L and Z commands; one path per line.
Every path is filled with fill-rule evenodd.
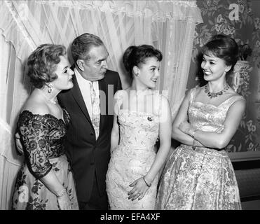
M 104 45 L 102 40 L 94 34 L 81 34 L 74 39 L 71 43 L 71 56 L 76 64 L 78 59 L 88 60 L 90 59 L 89 52 L 93 46 Z

